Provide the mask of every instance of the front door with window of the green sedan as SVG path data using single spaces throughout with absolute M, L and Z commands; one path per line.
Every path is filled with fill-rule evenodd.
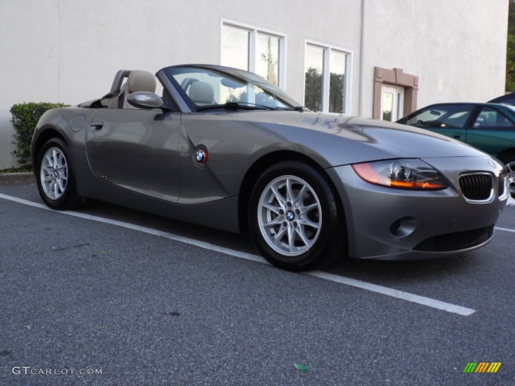
M 473 110 L 473 104 L 433 104 L 403 118 L 401 122 L 466 142 L 466 127 Z

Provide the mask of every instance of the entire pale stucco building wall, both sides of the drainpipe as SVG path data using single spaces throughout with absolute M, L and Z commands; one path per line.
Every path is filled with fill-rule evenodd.
M 374 66 L 419 76 L 419 107 L 487 100 L 504 91 L 508 0 L 487 3 L 0 0 L 0 169 L 15 164 L 9 154 L 14 103 L 100 97 L 122 68 L 219 64 L 221 20 L 286 35 L 286 90 L 299 101 L 306 40 L 352 52 L 354 115 L 372 115 Z

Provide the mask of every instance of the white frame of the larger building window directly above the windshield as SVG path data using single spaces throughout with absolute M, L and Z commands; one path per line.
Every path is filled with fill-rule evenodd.
M 241 28 L 249 31 L 249 51 L 248 51 L 248 60 L 249 60 L 249 69 L 248 71 L 255 74 L 256 69 L 256 39 L 258 33 L 267 34 L 279 39 L 279 77 L 278 77 L 278 86 L 281 89 L 286 90 L 286 45 L 287 45 L 287 35 L 284 32 L 273 31 L 267 28 L 260 28 L 250 24 L 239 23 L 233 20 L 221 19 L 220 20 L 220 60 L 219 63 L 222 65 L 222 35 L 224 31 L 224 26 Z

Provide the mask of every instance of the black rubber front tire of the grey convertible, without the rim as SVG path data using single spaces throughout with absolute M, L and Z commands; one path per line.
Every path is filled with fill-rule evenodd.
M 274 251 L 264 239 L 259 225 L 259 202 L 266 186 L 278 177 L 294 176 L 311 186 L 321 208 L 320 233 L 311 248 L 297 256 Z M 331 264 L 341 253 L 345 236 L 340 213 L 328 182 L 313 167 L 300 162 L 282 162 L 265 170 L 256 182 L 249 204 L 249 229 L 256 248 L 272 265 L 289 271 L 305 271 Z M 340 242 L 338 242 L 340 241 Z

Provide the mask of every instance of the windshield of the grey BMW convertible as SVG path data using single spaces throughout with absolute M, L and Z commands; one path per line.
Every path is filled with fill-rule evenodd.
M 165 74 L 175 80 L 197 110 L 216 107 L 267 110 L 301 109 L 286 92 L 264 78 L 228 67 L 168 67 Z

